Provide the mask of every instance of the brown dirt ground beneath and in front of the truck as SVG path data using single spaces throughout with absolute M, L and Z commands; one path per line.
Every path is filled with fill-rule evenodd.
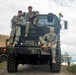
M 60 73 L 51 73 L 49 65 L 19 65 L 18 72 L 8 73 L 6 67 L 0 69 L 0 75 L 73 75 L 62 66 Z

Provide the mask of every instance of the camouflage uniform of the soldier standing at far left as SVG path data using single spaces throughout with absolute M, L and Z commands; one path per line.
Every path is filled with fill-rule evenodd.
M 19 20 L 17 22 L 17 20 Z M 12 44 L 17 44 L 17 42 L 19 41 L 19 37 L 21 36 L 21 26 L 24 25 L 23 22 L 23 17 L 22 16 L 14 16 L 12 21 L 12 30 L 10 33 L 10 39 L 9 42 Z M 14 38 L 15 37 L 15 38 Z

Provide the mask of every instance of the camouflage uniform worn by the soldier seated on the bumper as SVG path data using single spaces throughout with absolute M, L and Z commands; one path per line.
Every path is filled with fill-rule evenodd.
M 57 44 L 57 40 L 58 40 L 58 37 L 55 33 L 53 34 L 45 34 L 43 37 L 40 37 L 39 38 L 41 44 L 49 44 L 51 43 L 51 51 L 52 51 L 52 57 L 55 57 L 56 55 L 56 44 Z

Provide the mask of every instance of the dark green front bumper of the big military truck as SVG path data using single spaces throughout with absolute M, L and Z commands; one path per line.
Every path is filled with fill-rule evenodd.
M 17 54 L 50 54 L 49 50 L 41 49 L 40 47 L 8 47 L 8 53 L 17 53 Z

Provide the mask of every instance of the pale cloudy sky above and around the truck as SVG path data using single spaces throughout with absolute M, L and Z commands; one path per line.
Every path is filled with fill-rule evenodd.
M 27 12 L 29 5 L 42 14 L 50 12 L 58 16 L 59 12 L 62 12 L 62 20 L 68 21 L 68 30 L 62 29 L 60 34 L 62 54 L 68 52 L 76 59 L 76 1 L 73 1 L 64 0 L 64 3 L 62 0 L 0 0 L 0 34 L 9 35 L 11 18 L 17 15 L 18 10 Z

